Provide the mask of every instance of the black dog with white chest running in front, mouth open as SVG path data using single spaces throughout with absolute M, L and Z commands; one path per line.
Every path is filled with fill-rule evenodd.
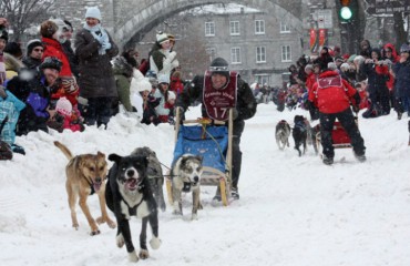
M 123 247 L 125 244 L 130 262 L 137 262 L 139 256 L 145 259 L 150 256 L 146 247 L 148 222 L 153 234 L 150 245 L 153 249 L 161 246 L 157 206 L 146 173 L 148 160 L 143 155 L 123 157 L 116 154 L 110 154 L 109 160 L 115 163 L 109 172 L 105 201 L 109 208 L 115 214 L 117 223 L 116 245 Z M 131 239 L 129 224 L 131 216 L 142 218 L 139 256 Z

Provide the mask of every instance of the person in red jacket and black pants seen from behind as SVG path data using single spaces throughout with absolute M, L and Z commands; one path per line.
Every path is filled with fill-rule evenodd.
M 346 133 L 349 135 L 356 158 L 360 162 L 365 162 L 365 141 L 360 135 L 350 109 L 351 103 L 355 112 L 359 110 L 359 92 L 352 88 L 349 82 L 341 79 L 338 72 L 328 70 L 326 65 L 320 65 L 320 68 L 321 73 L 312 86 L 312 90 L 309 91 L 309 102 L 319 109 L 324 163 L 327 165 L 334 163 L 335 150 L 331 132 L 336 119 L 339 120 Z

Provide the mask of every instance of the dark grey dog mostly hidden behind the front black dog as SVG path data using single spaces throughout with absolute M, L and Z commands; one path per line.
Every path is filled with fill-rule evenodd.
M 148 158 L 147 175 L 151 184 L 151 188 L 154 191 L 154 197 L 156 204 L 158 204 L 161 211 L 165 212 L 166 205 L 164 200 L 164 175 L 162 172 L 160 160 L 156 157 L 156 153 L 147 146 L 135 149 L 131 155 L 143 155 Z

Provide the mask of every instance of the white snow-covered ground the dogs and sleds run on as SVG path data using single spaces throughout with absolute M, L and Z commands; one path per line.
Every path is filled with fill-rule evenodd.
M 194 108 L 189 114 L 197 113 Z M 150 249 L 151 257 L 139 265 L 410 265 L 408 119 L 398 121 L 393 113 L 360 119 L 368 161 L 358 163 L 350 149 L 336 150 L 336 163 L 327 166 L 311 147 L 298 157 L 291 147 L 276 146 L 276 123 L 286 119 L 291 124 L 297 113 L 308 115 L 259 104 L 242 139 L 240 200 L 228 207 L 213 206 L 215 187 L 205 187 L 204 209 L 191 221 L 191 195 L 184 195 L 184 217 L 172 215 L 170 205 L 160 212 L 162 246 Z M 71 227 L 64 187 L 68 160 L 54 140 L 73 154 L 125 155 L 146 145 L 165 165 L 174 147 L 168 124 L 146 126 L 122 115 L 107 130 L 18 137 L 27 155 L 0 162 L 0 264 L 131 265 L 125 248 L 115 245 L 116 229 L 103 224 L 100 235 L 90 236 L 80 208 L 80 228 Z M 89 205 L 99 216 L 96 196 L 89 197 Z M 131 226 L 139 246 L 141 222 L 133 218 Z

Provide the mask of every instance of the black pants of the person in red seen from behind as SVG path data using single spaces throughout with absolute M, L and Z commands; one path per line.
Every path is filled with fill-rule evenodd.
M 327 157 L 335 157 L 334 141 L 331 139 L 331 131 L 334 130 L 335 120 L 338 119 L 344 126 L 346 133 L 349 135 L 355 154 L 363 155 L 366 147 L 365 141 L 360 135 L 359 129 L 356 125 L 353 113 L 350 108 L 340 113 L 320 113 L 320 137 L 324 147 L 324 155 Z

